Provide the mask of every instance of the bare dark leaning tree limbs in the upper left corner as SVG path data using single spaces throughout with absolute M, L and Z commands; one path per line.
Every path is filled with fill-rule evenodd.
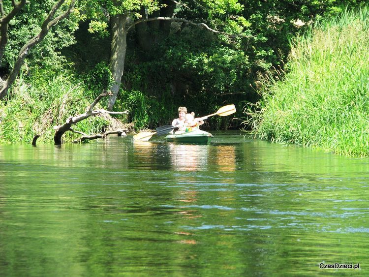
M 48 34 L 51 28 L 56 26 L 60 21 L 67 18 L 73 11 L 75 0 L 70 0 L 68 5 L 63 5 L 65 0 L 57 1 L 50 12 L 41 24 L 40 31 L 34 35 L 28 42 L 26 42 L 18 53 L 18 56 L 14 62 L 13 68 L 10 70 L 6 78 L 0 77 L 0 99 L 4 98 L 11 87 L 11 85 L 16 80 L 22 65 L 25 62 L 26 57 L 30 54 L 30 50 L 38 43 L 40 43 L 45 36 Z M 16 2 L 11 1 L 11 7 L 9 7 L 9 12 L 6 13 L 6 8 L 4 7 L 2 0 L 0 0 L 0 62 L 2 61 L 6 45 L 8 43 L 8 26 L 9 22 L 26 6 L 26 4 L 32 4 L 27 0 L 20 0 Z M 65 9 L 62 13 L 60 10 Z M 59 15 L 58 15 L 59 12 Z M 1 64 L 0 64 L 1 65 Z

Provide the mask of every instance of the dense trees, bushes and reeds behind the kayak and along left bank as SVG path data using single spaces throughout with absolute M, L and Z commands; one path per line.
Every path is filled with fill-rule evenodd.
M 9 22 L 2 79 L 55 2 L 30 0 Z M 18 79 L 0 100 L 0 141 L 28 142 L 36 133 L 51 141 L 54 125 L 83 113 L 96 95 L 115 89 L 117 83 L 112 108 L 129 109 L 128 116 L 117 118 L 132 121 L 136 129 L 169 123 L 183 105 L 206 115 L 234 103 L 241 117 L 244 103 L 258 100 L 263 73 L 272 66 L 284 68 L 291 36 L 316 19 L 338 14 L 346 4 L 362 2 L 75 0 L 73 13 L 29 51 Z M 3 9 L 11 10 L 10 1 Z M 154 20 L 158 16 L 183 21 Z M 126 48 L 119 58 L 122 52 L 113 52 L 112 45 L 120 33 L 112 28 L 112 20 L 122 18 L 130 29 L 120 30 Z M 212 31 L 194 26 L 199 23 Z M 124 71 L 114 62 L 124 65 Z M 107 106 L 108 100 L 101 105 Z M 208 123 L 210 128 L 229 128 L 241 121 L 212 117 Z M 107 118 L 91 118 L 76 129 L 92 133 L 111 124 Z

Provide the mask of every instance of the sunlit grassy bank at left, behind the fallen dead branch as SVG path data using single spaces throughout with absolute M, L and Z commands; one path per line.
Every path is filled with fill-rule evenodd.
M 47 75 L 42 71 L 31 79 L 21 76 L 11 89 L 10 99 L 6 103 L 0 101 L 0 143 L 30 143 L 36 134 L 41 136 L 38 142 L 53 142 L 53 127 L 65 123 L 69 116 L 84 113 L 97 96 L 70 72 Z M 121 117 L 124 121 L 124 115 Z M 122 124 L 110 116 L 95 116 L 73 128 L 93 134 L 118 127 Z M 80 134 L 66 132 L 63 140 L 79 137 Z

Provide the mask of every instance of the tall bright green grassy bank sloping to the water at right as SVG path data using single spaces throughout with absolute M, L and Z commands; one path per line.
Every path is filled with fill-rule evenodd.
M 345 11 L 293 42 L 282 81 L 247 109 L 257 137 L 369 155 L 369 9 Z M 249 107 L 250 108 L 250 107 Z

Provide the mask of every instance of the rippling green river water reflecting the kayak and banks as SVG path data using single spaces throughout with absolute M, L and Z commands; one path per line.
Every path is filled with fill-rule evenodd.
M 0 275 L 368 276 L 368 158 L 214 135 L 0 146 Z

